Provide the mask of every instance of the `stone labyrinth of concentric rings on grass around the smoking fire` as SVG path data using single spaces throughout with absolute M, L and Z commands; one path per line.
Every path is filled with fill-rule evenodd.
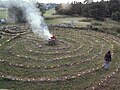
M 104 65 L 104 55 L 119 46 L 114 36 L 88 30 L 49 27 L 58 45 L 49 46 L 27 25 L 8 26 L 0 39 L 2 78 L 29 81 L 64 81 L 90 74 Z M 17 32 L 18 31 L 18 32 Z M 113 55 L 113 52 L 112 52 Z

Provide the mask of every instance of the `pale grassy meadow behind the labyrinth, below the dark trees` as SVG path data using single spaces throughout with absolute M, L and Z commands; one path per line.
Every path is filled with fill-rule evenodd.
M 90 18 L 84 17 L 72 17 L 72 16 L 65 16 L 65 15 L 54 15 L 55 10 L 50 9 L 48 10 L 44 16 L 48 17 L 46 19 L 46 23 L 48 24 L 71 24 L 74 23 L 75 26 L 80 28 L 88 28 L 88 26 L 92 26 L 95 31 L 100 31 L 104 33 L 110 33 L 120 37 L 120 22 L 116 22 L 110 19 L 106 19 L 105 21 L 96 21 Z

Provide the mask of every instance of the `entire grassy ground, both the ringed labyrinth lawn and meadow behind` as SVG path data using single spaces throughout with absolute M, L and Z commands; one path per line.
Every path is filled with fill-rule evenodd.
M 49 13 L 54 12 L 53 10 Z M 53 16 L 52 16 L 53 17 Z M 90 21 L 81 17 L 55 17 L 49 24 L 74 23 L 78 27 L 106 28 L 119 34 L 119 22 Z M 87 20 L 87 21 L 86 21 Z M 7 26 L 7 27 L 6 27 Z M 27 25 L 4 27 L 25 30 L 25 34 L 4 34 L 0 38 L 0 89 L 12 90 L 119 90 L 120 39 L 114 35 L 73 28 L 49 27 L 58 45 L 49 46 Z M 10 28 L 9 28 L 9 27 Z M 14 31 L 14 29 L 11 29 Z M 110 31 L 108 31 L 110 32 Z M 104 55 L 112 52 L 109 70 Z

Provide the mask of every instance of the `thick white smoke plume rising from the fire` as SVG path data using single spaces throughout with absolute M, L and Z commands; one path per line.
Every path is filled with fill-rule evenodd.
M 26 17 L 28 23 L 31 25 L 32 31 L 36 36 L 41 37 L 44 40 L 48 40 L 52 36 L 48 30 L 46 23 L 44 22 L 44 18 L 41 16 L 41 13 L 36 8 L 34 2 L 9 0 L 2 4 L 8 8 L 11 6 L 20 7 L 23 10 L 24 16 Z

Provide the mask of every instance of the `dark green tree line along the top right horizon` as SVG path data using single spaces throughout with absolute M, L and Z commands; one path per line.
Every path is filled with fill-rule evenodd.
M 101 0 L 100 2 L 85 0 L 84 3 L 74 1 L 70 4 L 58 4 L 55 10 L 57 14 L 83 16 L 96 20 L 104 20 L 105 18 L 120 20 L 120 0 Z

